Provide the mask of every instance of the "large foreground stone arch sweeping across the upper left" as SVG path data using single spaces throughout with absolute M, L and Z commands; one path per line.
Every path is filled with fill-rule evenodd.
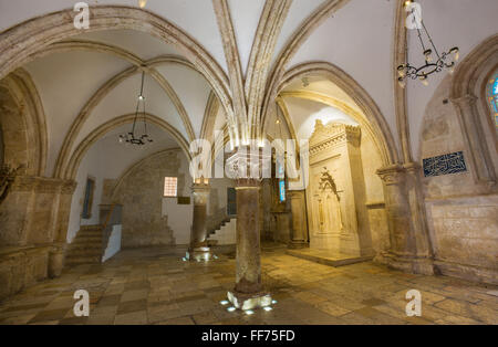
M 181 51 L 206 77 L 226 109 L 232 129 L 237 119 L 232 109 L 230 85 L 219 64 L 187 33 L 148 11 L 120 6 L 97 6 L 90 9 L 89 32 L 108 29 L 137 30 L 149 33 Z M 50 44 L 77 35 L 72 9 L 53 12 L 20 23 L 0 34 L 0 78 L 30 61 L 30 56 Z M 38 28 L 43 28 L 40 31 Z M 230 132 L 231 134 L 231 132 Z

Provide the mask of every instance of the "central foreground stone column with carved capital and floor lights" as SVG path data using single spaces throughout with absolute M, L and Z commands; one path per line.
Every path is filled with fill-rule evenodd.
M 236 285 L 228 293 L 229 301 L 240 309 L 269 306 L 271 297 L 261 283 L 261 249 L 259 193 L 263 160 L 271 157 L 236 153 L 227 160 L 237 189 L 237 269 Z M 257 172 L 255 175 L 255 172 Z

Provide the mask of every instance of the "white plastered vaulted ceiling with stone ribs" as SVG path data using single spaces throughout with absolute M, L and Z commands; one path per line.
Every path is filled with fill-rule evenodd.
M 87 1 L 91 7 L 134 8 L 137 2 Z M 479 0 L 478 6 L 475 0 L 419 2 L 436 44 L 444 49 L 458 45 L 461 56 L 498 32 L 496 0 Z M 396 0 L 148 0 L 145 11 L 176 25 L 219 66 L 219 85 L 228 81 L 228 104 L 222 99 L 212 102 L 221 87 L 206 78 L 208 73 L 199 69 L 201 65 L 195 56 L 152 33 L 127 29 L 92 31 L 91 28 L 51 43 L 50 49 L 22 66 L 37 86 L 46 116 L 46 175 L 53 175 L 64 144 L 74 151 L 95 128 L 134 113 L 139 67 L 144 64 L 147 112 L 167 122 L 186 143 L 205 135 L 207 127 L 221 129 L 230 113 L 238 119 L 234 128 L 239 132 L 236 137 L 253 137 L 258 133 L 253 129 L 255 124 L 259 127 L 258 115 L 269 107 L 266 98 L 272 102 L 271 96 L 277 96 L 270 92 L 278 90 L 282 74 L 303 63 L 320 61 L 341 69 L 365 90 L 378 106 L 400 150 L 397 86 L 393 77 L 394 51 L 398 44 L 395 40 L 397 4 Z M 17 24 L 70 10 L 72 6 L 68 0 L 1 1 L 0 38 Z M 415 39 L 408 32 L 408 53 L 416 60 L 419 48 Z M 406 116 L 415 154 L 425 107 L 444 75 L 434 77 L 429 86 L 409 83 L 406 88 Z M 312 74 L 309 78 L 308 90 L 356 107 L 333 83 Z M 291 95 L 300 90 L 302 84 L 293 82 L 283 91 L 288 95 L 282 95 L 291 113 L 295 111 L 297 116 L 291 119 L 295 132 L 305 124 L 303 109 L 319 112 L 322 106 L 330 107 Z M 347 119 L 347 115 L 336 113 L 336 116 Z M 206 117 L 216 119 L 207 125 Z M 68 141 L 68 134 L 79 119 L 84 122 Z

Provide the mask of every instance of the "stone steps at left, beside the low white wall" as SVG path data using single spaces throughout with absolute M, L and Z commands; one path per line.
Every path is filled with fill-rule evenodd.
M 82 225 L 74 241 L 69 245 L 66 266 L 100 264 L 104 250 L 102 225 Z

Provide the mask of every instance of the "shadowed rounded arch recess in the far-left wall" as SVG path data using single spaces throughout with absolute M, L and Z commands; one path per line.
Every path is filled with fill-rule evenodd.
M 2 158 L 18 175 L 42 176 L 46 162 L 46 124 L 31 76 L 17 70 L 0 82 Z

